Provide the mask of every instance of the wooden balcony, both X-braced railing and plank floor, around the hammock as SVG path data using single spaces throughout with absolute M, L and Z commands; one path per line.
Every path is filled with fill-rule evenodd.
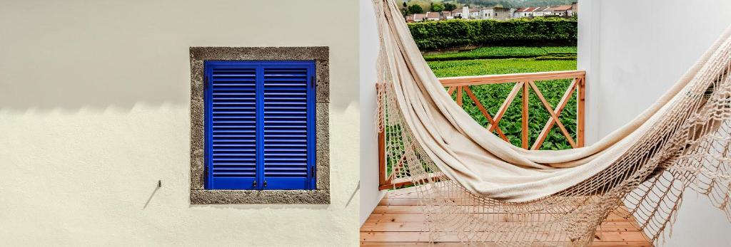
M 478 122 L 485 123 L 485 128 L 504 141 L 508 141 L 523 149 L 542 149 L 551 131 L 558 131 L 570 148 L 584 146 L 585 116 L 586 116 L 586 72 L 585 71 L 555 71 L 527 74 L 503 74 L 477 77 L 450 77 L 439 79 L 447 93 L 455 98 L 463 108 L 471 107 L 480 112 Z M 541 85 L 567 85 L 563 95 L 557 102 L 551 103 L 542 93 Z M 502 100 L 499 106 L 485 105 L 480 101 L 474 90 L 484 85 L 505 85 L 510 93 Z M 519 97 L 520 95 L 520 97 Z M 556 101 L 554 98 L 553 101 Z M 532 102 L 532 103 L 531 103 Z M 567 105 L 575 103 L 575 119 L 571 123 L 566 121 Z M 516 105 L 517 104 L 517 105 Z M 501 128 L 501 121 L 511 109 L 519 106 L 520 131 L 510 131 Z M 531 107 L 532 106 L 532 107 Z M 541 106 L 541 107 L 536 107 Z M 496 109 L 493 112 L 488 109 Z M 548 119 L 538 119 L 541 125 L 533 124 L 531 115 L 536 110 L 548 112 Z M 383 113 L 382 113 L 383 114 Z M 515 114 L 515 109 L 513 109 Z M 473 115 L 474 117 L 474 115 Z M 484 117 L 484 118 L 483 118 Z M 563 117 L 563 120 L 562 120 Z M 514 119 L 515 121 L 515 119 Z M 517 122 L 515 122 L 517 124 Z M 556 128 L 555 128 L 556 127 Z M 554 130 L 557 129 L 557 130 Z M 558 136 L 558 135 L 553 135 Z M 403 157 L 385 157 L 386 133 L 379 133 L 379 189 L 390 189 L 376 209 L 360 228 L 362 246 L 428 246 L 428 222 L 423 217 L 423 210 L 419 205 L 419 198 L 415 192 L 411 179 L 395 178 L 391 165 L 402 162 Z M 509 222 L 510 217 L 504 217 Z M 472 228 L 472 227 L 470 227 Z M 479 228 L 477 228 L 479 229 Z M 439 246 L 461 246 L 460 240 L 454 238 L 437 239 Z M 561 246 L 562 243 L 555 243 Z M 567 243 L 568 244 L 568 243 Z M 593 246 L 652 246 L 650 239 L 640 230 L 637 221 L 626 211 L 618 208 L 617 211 L 602 223 L 596 230 Z

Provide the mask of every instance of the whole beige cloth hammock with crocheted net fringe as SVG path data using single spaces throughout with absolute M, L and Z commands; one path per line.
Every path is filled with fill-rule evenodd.
M 602 221 L 619 213 L 633 216 L 659 243 L 670 233 L 686 189 L 706 195 L 730 216 L 729 32 L 656 106 L 609 141 L 577 151 L 518 152 L 499 138 L 480 141 L 477 134 L 493 135 L 484 127 L 477 134 L 463 127 L 477 123 L 453 120 L 474 122 L 457 112 L 463 110 L 428 70 L 393 1 L 374 0 L 374 6 L 382 44 L 377 125 L 386 136 L 385 159 L 395 179 L 415 184 L 431 240 L 456 235 L 471 245 L 588 246 Z M 452 136 L 474 143 L 469 148 L 480 149 L 479 155 L 450 151 Z M 485 144 L 492 141 L 504 146 Z M 520 155 L 538 165 L 526 165 Z M 502 170 L 504 176 L 471 173 L 503 166 L 512 169 Z M 525 174 L 560 176 L 586 166 L 596 169 L 579 170 L 581 179 L 567 185 L 544 179 L 521 190 L 524 182 L 503 181 Z

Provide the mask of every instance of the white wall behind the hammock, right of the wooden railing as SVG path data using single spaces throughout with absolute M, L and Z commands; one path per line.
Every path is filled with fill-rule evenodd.
M 580 1 L 580 68 L 588 70 L 588 143 L 656 101 L 731 25 L 731 1 Z M 621 15 L 626 7 L 654 9 Z M 682 12 L 683 17 L 667 15 Z M 591 54 L 586 52 L 591 51 Z M 666 246 L 728 246 L 731 224 L 689 191 Z

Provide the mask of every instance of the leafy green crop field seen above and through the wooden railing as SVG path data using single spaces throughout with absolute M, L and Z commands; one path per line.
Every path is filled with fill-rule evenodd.
M 526 50 L 526 47 L 518 47 L 513 50 L 518 50 L 516 54 L 526 54 L 530 50 Z M 552 47 L 539 48 L 545 50 L 551 50 L 558 48 L 558 50 L 571 50 L 575 51 L 575 47 Z M 497 50 L 510 50 L 504 49 L 493 49 Z M 483 51 L 478 51 L 483 52 Z M 467 53 L 467 52 L 464 52 Z M 506 53 L 507 54 L 507 53 Z M 447 55 L 447 54 L 445 54 Z M 450 55 L 460 55 L 460 53 L 450 53 Z M 436 77 L 461 77 L 461 76 L 477 76 L 477 75 L 488 75 L 488 74 L 513 74 L 513 73 L 529 73 L 529 72 L 540 72 L 540 71 L 565 71 L 576 69 L 576 60 L 541 60 L 536 58 L 512 58 L 512 59 L 481 59 L 481 60 L 450 60 L 450 61 L 432 61 L 429 62 L 429 66 L 436 74 Z M 536 82 L 537 87 L 541 90 L 546 100 L 555 108 L 558 101 L 561 100 L 561 96 L 567 90 L 567 87 L 571 83 L 570 79 L 553 80 L 553 81 L 541 81 Z M 470 87 L 477 98 L 492 116 L 496 114 L 502 102 L 507 98 L 510 90 L 514 86 L 513 83 L 500 84 L 500 85 L 480 85 Z M 522 92 L 522 91 L 521 91 Z M 532 90 L 531 90 L 532 92 Z M 456 95 L 456 94 L 455 94 Z M 455 97 L 452 95 L 452 97 Z M 575 95 L 575 94 L 574 94 Z M 521 111 L 520 98 L 522 93 L 518 93 L 516 100 L 508 108 L 505 116 L 500 121 L 499 125 L 505 135 L 510 139 L 512 144 L 520 146 L 520 130 L 523 121 L 523 115 Z M 534 93 L 530 94 L 530 110 L 529 110 L 529 129 L 531 144 L 538 137 L 540 130 L 548 121 L 550 114 L 542 106 L 542 103 L 536 97 Z M 472 103 L 471 99 L 467 95 L 463 95 L 464 109 L 482 125 L 487 126 L 488 120 L 482 116 L 477 106 Z M 561 113 L 561 122 L 564 123 L 569 133 L 575 138 L 576 133 L 576 99 L 572 97 L 564 111 Z M 558 130 L 558 127 L 554 125 L 553 130 L 546 138 L 542 149 L 570 149 L 569 143 L 566 138 Z

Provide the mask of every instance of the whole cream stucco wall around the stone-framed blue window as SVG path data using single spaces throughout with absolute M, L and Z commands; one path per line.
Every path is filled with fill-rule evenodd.
M 356 246 L 357 15 L 356 1 L 0 1 L 2 245 Z M 189 204 L 191 46 L 330 47 L 332 204 Z

